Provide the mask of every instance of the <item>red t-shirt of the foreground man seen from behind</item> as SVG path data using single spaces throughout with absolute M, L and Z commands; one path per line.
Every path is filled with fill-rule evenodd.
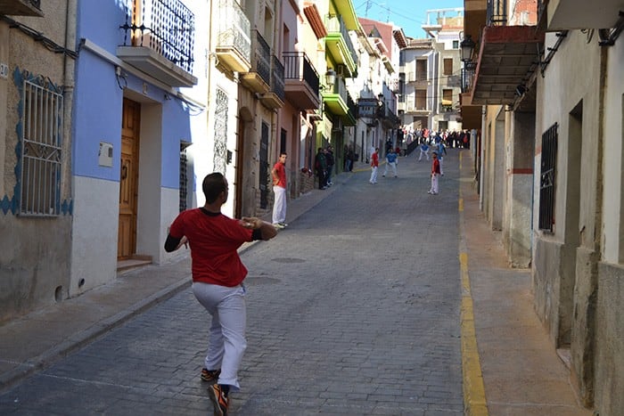
M 252 241 L 252 230 L 243 228 L 238 220 L 201 208 L 187 209 L 171 224 L 169 235 L 188 239 L 193 281 L 232 288 L 247 275 L 237 249 Z

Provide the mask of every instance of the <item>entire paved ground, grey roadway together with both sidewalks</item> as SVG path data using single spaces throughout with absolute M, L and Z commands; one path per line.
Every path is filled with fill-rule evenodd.
M 480 215 L 468 151 L 449 150 L 437 196 L 415 156 L 378 184 L 365 167 L 338 175 L 242 249 L 232 414 L 590 414 L 532 311 L 529 271 L 506 267 Z M 187 258 L 150 265 L 0 326 L 0 414 L 211 414 L 209 315 L 189 273 Z

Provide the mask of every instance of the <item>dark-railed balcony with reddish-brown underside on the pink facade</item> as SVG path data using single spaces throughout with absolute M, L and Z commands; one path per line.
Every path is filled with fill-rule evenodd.
M 284 90 L 286 98 L 299 110 L 317 109 L 320 86 L 318 72 L 308 55 L 302 52 L 284 52 Z

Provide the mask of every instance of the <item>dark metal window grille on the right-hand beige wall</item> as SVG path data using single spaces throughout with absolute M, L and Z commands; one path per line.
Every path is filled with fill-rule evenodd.
M 557 167 L 557 124 L 542 135 L 542 166 L 539 184 L 539 229 L 553 231 L 554 190 Z

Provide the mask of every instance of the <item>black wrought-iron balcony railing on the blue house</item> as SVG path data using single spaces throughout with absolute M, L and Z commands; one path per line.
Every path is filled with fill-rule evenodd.
M 136 0 L 127 11 L 124 46 L 152 49 L 186 72 L 193 72 L 195 16 L 179 0 Z

